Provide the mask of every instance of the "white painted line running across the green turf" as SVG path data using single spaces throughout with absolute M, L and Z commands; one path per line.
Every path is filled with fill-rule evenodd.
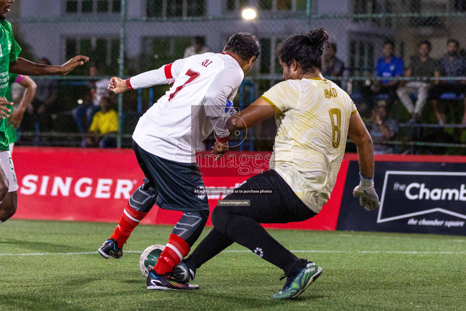
M 125 253 L 142 254 L 142 250 L 125 250 Z M 292 253 L 348 253 L 348 254 L 453 254 L 463 255 L 466 252 L 428 252 L 428 251 L 403 251 L 403 250 L 292 250 Z M 222 253 L 251 253 L 250 250 L 224 250 Z M 98 254 L 98 252 L 79 252 L 79 253 L 25 253 L 25 254 L 0 254 L 0 256 L 41 256 L 41 255 L 86 255 Z

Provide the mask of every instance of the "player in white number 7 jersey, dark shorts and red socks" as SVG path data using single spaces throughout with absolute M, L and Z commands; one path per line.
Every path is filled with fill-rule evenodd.
M 233 98 L 259 54 L 259 41 L 253 35 L 239 33 L 230 37 L 221 54 L 193 55 L 125 81 L 117 77 L 110 80 L 109 89 L 115 93 L 173 83 L 137 123 L 133 149 L 146 177 L 144 185 L 131 195 L 113 235 L 99 249 L 107 259 L 123 256 L 123 244 L 154 204 L 183 211 L 149 272 L 147 289 L 197 289 L 170 276 L 173 267 L 189 253 L 209 216 L 194 148 L 215 130 L 217 141 L 212 153 L 228 151 L 226 116 L 233 114 Z

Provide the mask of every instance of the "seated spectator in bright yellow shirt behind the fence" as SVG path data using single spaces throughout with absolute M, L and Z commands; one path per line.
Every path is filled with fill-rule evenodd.
M 117 140 L 109 134 L 114 134 L 118 131 L 118 114 L 117 111 L 110 109 L 110 107 L 110 98 L 102 97 L 100 100 L 100 111 L 97 111 L 92 118 L 92 123 L 89 127 L 89 137 L 82 141 L 82 147 L 117 147 Z

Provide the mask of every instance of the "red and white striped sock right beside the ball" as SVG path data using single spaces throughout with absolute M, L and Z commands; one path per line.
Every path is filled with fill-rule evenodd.
M 164 251 L 155 264 L 155 272 L 158 274 L 171 272 L 189 254 L 190 250 L 191 247 L 185 240 L 178 235 L 171 234 Z

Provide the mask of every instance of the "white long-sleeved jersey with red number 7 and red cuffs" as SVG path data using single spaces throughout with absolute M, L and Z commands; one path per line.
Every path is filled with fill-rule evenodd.
M 214 127 L 221 142 L 227 139 L 226 116 L 234 112 L 233 98 L 243 77 L 233 56 L 205 53 L 127 79 L 129 89 L 173 83 L 139 119 L 134 141 L 161 158 L 196 162 L 194 148 Z

